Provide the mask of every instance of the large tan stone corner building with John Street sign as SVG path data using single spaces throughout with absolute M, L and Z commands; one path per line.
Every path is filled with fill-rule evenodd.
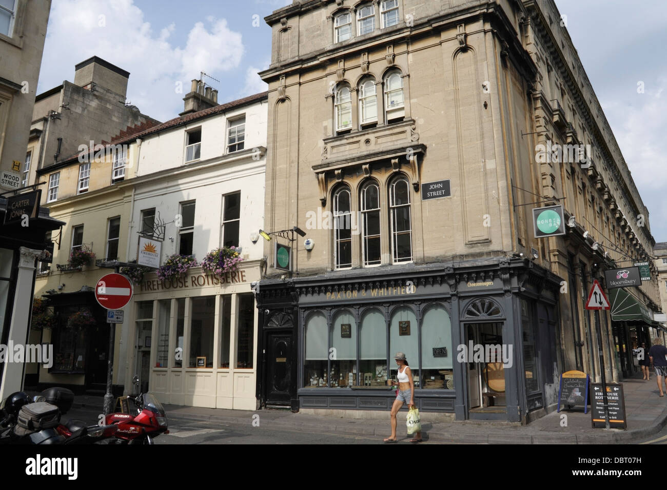
M 460 420 L 554 410 L 563 371 L 599 381 L 599 349 L 621 379 L 652 319 L 584 302 L 654 239 L 554 2 L 307 0 L 265 20 L 261 402 L 387 410 L 396 351 L 420 410 Z M 559 204 L 565 234 L 536 238 L 531 209 Z M 657 310 L 656 287 L 628 301 Z

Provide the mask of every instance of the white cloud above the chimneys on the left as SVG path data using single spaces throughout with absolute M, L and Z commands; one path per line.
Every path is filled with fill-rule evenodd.
M 182 107 L 190 80 L 199 71 L 229 72 L 245 51 L 241 33 L 225 19 L 189 27 L 185 47 L 174 45 L 177 23 L 153 29 L 133 0 L 58 0 L 53 2 L 38 93 L 73 81 L 74 65 L 97 55 L 131 73 L 127 99 L 141 112 L 166 121 Z M 181 82 L 183 93 L 176 90 Z

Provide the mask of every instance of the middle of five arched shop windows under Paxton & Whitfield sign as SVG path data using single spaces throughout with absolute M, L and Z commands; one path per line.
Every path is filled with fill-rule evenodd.
M 378 309 L 368 310 L 362 317 L 359 372 L 358 386 L 387 384 L 387 323 Z

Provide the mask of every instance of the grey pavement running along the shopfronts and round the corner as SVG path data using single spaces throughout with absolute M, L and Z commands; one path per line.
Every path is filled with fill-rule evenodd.
M 653 374 L 653 373 L 652 373 Z M 667 396 L 659 397 L 656 378 L 643 381 L 641 374 L 624 379 L 626 419 L 628 429 L 593 429 L 590 410 L 583 407 L 553 411 L 528 425 L 506 422 L 480 421 L 424 421 L 422 437 L 425 441 L 440 443 L 488 443 L 488 444 L 613 444 L 638 443 L 660 433 L 667 423 Z M 77 409 L 89 419 L 91 410 L 102 413 L 103 398 L 79 395 L 67 413 L 77 418 Z M 164 405 L 167 419 L 179 423 L 209 421 L 225 424 L 241 424 L 271 427 L 283 431 L 307 431 L 309 433 L 340 433 L 371 435 L 379 439 L 391 433 L 390 416 L 384 419 L 354 419 L 333 415 L 306 415 L 292 413 L 289 409 L 261 409 L 257 411 L 211 409 Z M 408 411 L 404 407 L 398 414 L 398 438 L 404 440 L 404 427 Z M 257 417 L 257 415 L 259 417 Z M 425 414 L 428 415 L 428 414 Z M 566 415 L 566 417 L 562 417 Z M 428 419 L 428 417 L 424 417 Z M 95 421 L 91 421 L 94 423 Z

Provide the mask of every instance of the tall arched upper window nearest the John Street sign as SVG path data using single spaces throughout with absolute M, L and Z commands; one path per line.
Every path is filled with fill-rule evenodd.
M 394 263 L 412 261 L 412 219 L 408 179 L 396 179 L 389 189 L 392 259 Z

